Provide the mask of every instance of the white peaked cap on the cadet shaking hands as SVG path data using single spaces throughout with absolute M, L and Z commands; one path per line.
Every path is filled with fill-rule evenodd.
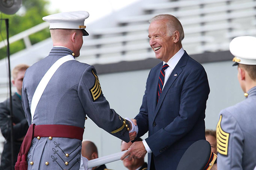
M 84 36 L 89 35 L 84 28 L 84 20 L 89 17 L 87 11 L 62 12 L 43 17 L 50 23 L 49 29 L 82 29 Z

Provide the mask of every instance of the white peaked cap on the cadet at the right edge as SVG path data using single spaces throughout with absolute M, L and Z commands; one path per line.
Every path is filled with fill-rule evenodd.
M 235 56 L 234 65 L 256 65 L 256 37 L 241 36 L 230 42 L 230 52 Z

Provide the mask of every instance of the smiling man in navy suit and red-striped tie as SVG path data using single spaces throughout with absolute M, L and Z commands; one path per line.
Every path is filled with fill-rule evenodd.
M 148 152 L 149 170 L 176 170 L 183 153 L 205 139 L 205 109 L 209 95 L 207 74 L 201 64 L 183 50 L 182 25 L 165 14 L 152 18 L 148 28 L 151 48 L 163 62 L 151 69 L 140 113 L 137 138 L 121 159 L 140 158 Z

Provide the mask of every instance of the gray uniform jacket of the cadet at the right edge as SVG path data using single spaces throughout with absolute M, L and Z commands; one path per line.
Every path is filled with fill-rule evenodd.
M 256 165 L 256 87 L 248 94 L 244 101 L 220 112 L 218 170 L 253 170 Z

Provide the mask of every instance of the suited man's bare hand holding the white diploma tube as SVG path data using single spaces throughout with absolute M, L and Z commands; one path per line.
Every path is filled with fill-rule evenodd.
M 143 145 L 142 141 L 134 142 L 131 147 L 128 149 L 127 152 L 123 154 L 121 157 L 121 160 L 125 159 L 126 156 L 128 156 L 128 159 L 132 158 L 143 158 L 147 151 L 145 150 L 145 147 Z

